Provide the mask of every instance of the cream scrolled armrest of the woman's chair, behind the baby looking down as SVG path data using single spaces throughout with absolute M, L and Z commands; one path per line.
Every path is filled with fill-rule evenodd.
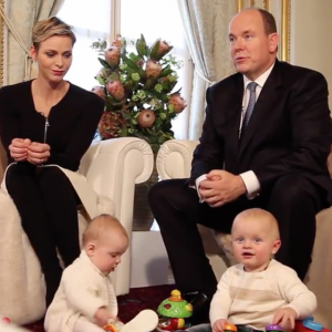
M 93 189 L 112 199 L 115 217 L 126 229 L 129 239 L 133 229 L 135 184 L 152 175 L 154 154 L 151 146 L 136 137 L 112 138 L 94 143 L 82 159 L 80 170 Z M 116 295 L 128 293 L 131 278 L 131 246 L 122 262 L 112 273 Z

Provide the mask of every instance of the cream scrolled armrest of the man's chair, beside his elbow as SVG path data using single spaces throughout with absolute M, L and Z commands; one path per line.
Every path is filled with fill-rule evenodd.
M 190 175 L 193 153 L 198 141 L 170 139 L 157 154 L 156 167 L 162 179 L 186 178 Z

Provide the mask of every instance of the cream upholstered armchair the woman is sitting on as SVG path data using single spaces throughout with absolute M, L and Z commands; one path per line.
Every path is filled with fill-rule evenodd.
M 153 166 L 153 152 L 145 141 L 123 137 L 93 143 L 82 158 L 80 172 L 95 193 L 113 201 L 115 217 L 131 235 L 135 184 L 147 180 Z M 17 211 L 8 214 L 13 216 Z M 85 215 L 79 214 L 80 237 L 89 222 Z M 39 320 L 45 311 L 45 288 L 35 253 L 19 222 L 8 227 L 0 219 L 0 314 L 17 324 Z M 117 295 L 128 293 L 129 268 L 131 248 L 112 273 Z

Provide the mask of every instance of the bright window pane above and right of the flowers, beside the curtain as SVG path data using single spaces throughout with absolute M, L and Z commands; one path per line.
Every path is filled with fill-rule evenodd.
M 177 72 L 179 80 L 175 90 L 181 87 L 181 95 L 189 104 L 193 62 L 189 59 L 177 0 L 121 0 L 122 37 L 136 40 L 141 33 L 149 45 L 157 38 L 162 38 L 174 46 L 172 53 L 184 63 L 183 69 Z M 188 108 L 187 106 L 173 122 L 176 138 L 188 137 Z

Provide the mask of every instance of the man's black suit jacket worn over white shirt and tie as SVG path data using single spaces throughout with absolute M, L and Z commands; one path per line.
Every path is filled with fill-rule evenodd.
M 239 139 L 243 76 L 237 73 L 212 85 L 189 183 L 211 169 L 253 170 L 263 194 L 281 176 L 301 174 L 325 190 L 332 204 L 328 95 L 322 74 L 277 60 Z

